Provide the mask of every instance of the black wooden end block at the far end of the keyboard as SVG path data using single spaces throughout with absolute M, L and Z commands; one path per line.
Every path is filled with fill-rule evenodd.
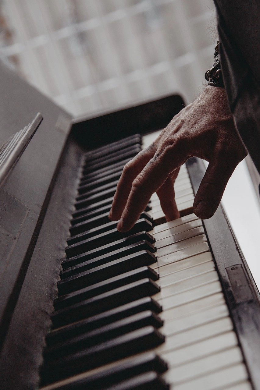
M 108 144 L 128 135 L 151 133 L 163 129 L 184 107 L 182 97 L 172 95 L 147 103 L 136 103 L 117 112 L 101 112 L 98 117 L 73 121 L 72 132 L 89 148 Z

